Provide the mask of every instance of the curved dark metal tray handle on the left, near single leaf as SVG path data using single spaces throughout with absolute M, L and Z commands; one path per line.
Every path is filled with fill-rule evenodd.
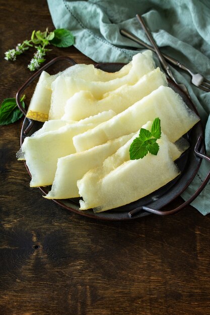
M 26 116 L 27 114 L 27 111 L 25 110 L 25 108 L 23 108 L 23 106 L 21 105 L 21 95 L 23 94 L 23 92 L 25 91 L 25 89 L 35 80 L 35 78 L 37 76 L 40 75 L 40 73 L 43 71 L 43 70 L 46 70 L 47 68 L 49 68 L 51 65 L 53 65 L 54 63 L 56 63 L 57 61 L 62 61 L 62 60 L 66 60 L 68 62 L 71 62 L 72 65 L 75 65 L 77 64 L 77 62 L 68 57 L 68 56 L 58 56 L 52 60 L 50 60 L 49 62 L 47 62 L 45 65 L 43 65 L 43 67 L 41 67 L 38 71 L 36 71 L 23 85 L 22 87 L 18 90 L 17 94 L 16 94 L 16 103 L 20 109 L 20 111 L 23 113 L 24 116 Z M 33 125 L 33 120 L 32 119 L 29 119 L 29 125 L 27 126 L 27 128 L 25 129 L 24 131 L 24 134 L 27 134 L 32 125 Z

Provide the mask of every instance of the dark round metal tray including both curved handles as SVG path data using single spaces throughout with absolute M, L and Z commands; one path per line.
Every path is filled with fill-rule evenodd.
M 19 89 L 17 95 L 16 95 L 16 101 L 20 108 L 20 110 L 26 115 L 26 110 L 22 108 L 20 97 L 23 94 L 24 90 L 35 80 L 35 78 L 40 75 L 40 73 L 47 69 L 48 67 L 52 66 L 54 63 L 66 60 L 68 62 L 71 62 L 72 64 L 76 64 L 76 62 L 69 57 L 56 57 L 47 64 L 45 64 L 41 69 L 39 69 L 35 74 L 33 74 L 29 80 Z M 115 72 L 118 71 L 124 64 L 123 63 L 100 63 L 96 64 L 95 66 L 97 68 L 103 69 L 107 72 Z M 188 98 L 188 96 L 179 89 L 179 87 L 173 83 L 172 81 L 168 80 L 169 86 L 178 93 L 183 101 L 186 103 L 186 105 L 193 111 L 196 112 L 198 115 L 194 105 L 192 104 L 191 100 Z M 31 119 L 25 118 L 21 130 L 21 145 L 25 139 L 26 136 L 30 136 L 35 131 L 40 129 L 42 127 L 43 123 L 38 121 L 32 121 Z M 206 178 L 200 185 L 200 187 L 197 189 L 197 191 L 191 196 L 191 198 L 184 203 L 182 203 L 180 206 L 178 206 L 175 209 L 171 209 L 168 211 L 162 211 L 161 209 L 169 204 L 172 200 L 177 198 L 191 183 L 195 175 L 197 174 L 197 171 L 200 167 L 202 159 L 207 160 L 210 162 L 210 159 L 207 155 L 204 154 L 205 148 L 204 148 L 204 135 L 201 123 L 198 122 L 189 132 L 187 132 L 184 135 L 187 140 L 190 143 L 189 149 L 184 152 L 178 160 L 175 161 L 175 163 L 178 165 L 181 174 L 168 183 L 167 185 L 161 187 L 160 189 L 156 190 L 152 194 L 139 199 L 135 202 L 132 202 L 130 204 L 127 204 L 125 206 L 121 206 L 112 210 L 108 210 L 105 212 L 100 213 L 94 213 L 92 209 L 81 211 L 79 209 L 79 199 L 80 198 L 72 198 L 72 199 L 60 199 L 60 200 L 53 200 L 60 206 L 69 209 L 73 212 L 79 213 L 84 216 L 88 216 L 91 218 L 96 219 L 104 219 L 104 220 L 127 220 L 127 219 L 134 219 L 143 217 L 145 215 L 148 215 L 149 213 L 154 213 L 158 215 L 170 215 L 174 214 L 181 209 L 183 209 L 186 205 L 191 203 L 198 194 L 202 191 L 202 189 L 207 184 L 208 180 L 210 179 L 210 172 L 207 174 Z M 25 164 L 26 166 L 26 164 Z M 28 173 L 30 174 L 27 166 L 26 169 Z M 39 187 L 40 190 L 47 194 L 50 190 L 49 187 Z

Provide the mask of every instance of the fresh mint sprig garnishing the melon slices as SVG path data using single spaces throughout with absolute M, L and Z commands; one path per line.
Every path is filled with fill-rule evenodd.
M 141 128 L 137 138 L 130 145 L 129 154 L 130 160 L 143 159 L 149 152 L 157 155 L 159 145 L 157 139 L 161 137 L 161 121 L 160 118 L 155 118 L 151 131 Z

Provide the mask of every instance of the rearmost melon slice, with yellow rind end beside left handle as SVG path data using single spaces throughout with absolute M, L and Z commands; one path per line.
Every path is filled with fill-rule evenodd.
M 50 75 L 46 71 L 42 71 L 32 96 L 26 117 L 41 122 L 48 120 L 52 95 L 51 84 L 59 75 L 78 77 L 85 81 L 109 81 L 116 77 L 126 75 L 130 68 L 131 62 L 114 73 L 97 69 L 93 64 L 76 64 L 54 75 Z

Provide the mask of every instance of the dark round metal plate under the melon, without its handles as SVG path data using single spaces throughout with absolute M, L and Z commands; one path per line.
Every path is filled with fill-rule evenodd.
M 115 72 L 115 71 L 118 71 L 123 65 L 124 64 L 122 64 L 122 63 L 101 63 L 101 64 L 97 64 L 96 67 L 103 69 L 104 71 L 107 71 L 107 72 Z M 197 114 L 197 111 L 196 111 L 194 105 L 192 104 L 190 99 L 187 97 L 187 95 L 182 90 L 180 90 L 179 87 L 175 83 L 173 83 L 170 80 L 168 80 L 168 82 L 169 82 L 169 86 L 182 97 L 182 99 L 186 103 L 186 105 L 190 109 L 195 111 Z M 28 123 L 29 123 L 28 119 L 25 118 L 25 120 L 23 122 L 22 130 L 21 130 L 21 143 L 24 141 L 24 138 L 25 138 L 24 131 L 27 128 Z M 42 127 L 42 125 L 43 125 L 43 123 L 34 121 L 33 127 L 30 130 L 30 132 L 27 134 L 27 136 L 30 136 L 35 131 L 40 129 Z M 81 215 L 88 216 L 88 217 L 95 218 L 95 219 L 104 219 L 104 220 L 127 220 L 127 219 L 143 217 L 145 215 L 148 215 L 149 213 L 143 211 L 143 212 L 139 212 L 134 217 L 128 216 L 129 211 L 131 211 L 137 207 L 143 206 L 143 205 L 145 205 L 145 206 L 147 205 L 147 206 L 150 206 L 156 210 L 159 210 L 162 207 L 164 207 L 165 205 L 167 205 L 168 203 L 170 203 L 172 200 L 174 200 L 176 197 L 178 197 L 188 187 L 188 185 L 193 180 L 193 178 L 195 177 L 195 175 L 199 169 L 201 159 L 199 157 L 195 156 L 194 146 L 195 146 L 196 141 L 197 141 L 199 136 L 201 136 L 203 138 L 203 130 L 202 130 L 201 123 L 198 122 L 184 136 L 189 141 L 190 147 L 176 161 L 176 164 L 178 165 L 178 167 L 181 170 L 181 175 L 178 176 L 176 179 L 174 179 L 172 182 L 165 185 L 164 187 L 160 188 L 159 190 L 153 192 L 152 194 L 150 194 L 150 195 L 148 195 L 142 199 L 139 199 L 139 200 L 132 202 L 130 204 L 127 204 L 125 206 L 121 206 L 121 207 L 118 207 L 118 208 L 115 208 L 112 210 L 108 210 L 105 212 L 100 212 L 100 213 L 94 213 L 92 209 L 81 211 L 79 209 L 79 207 L 80 207 L 79 206 L 79 199 L 80 198 L 62 199 L 62 200 L 53 200 L 53 201 L 56 202 L 57 204 L 59 204 L 60 206 L 66 208 L 66 209 L 69 209 L 73 212 L 79 213 Z M 202 147 L 200 148 L 200 152 L 204 153 L 204 144 L 203 143 L 202 143 Z M 27 166 L 26 166 L 26 169 L 27 169 L 28 173 L 30 174 Z M 44 194 L 47 194 L 48 191 L 50 190 L 50 186 L 49 187 L 39 187 L 39 188 L 41 189 L 41 191 Z

